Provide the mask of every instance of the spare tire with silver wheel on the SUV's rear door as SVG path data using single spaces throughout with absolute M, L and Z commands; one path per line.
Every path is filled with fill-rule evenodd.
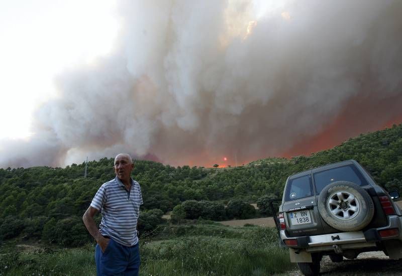
M 374 215 L 374 204 L 370 195 L 348 181 L 337 181 L 327 185 L 318 199 L 321 217 L 340 231 L 358 231 L 366 227 Z

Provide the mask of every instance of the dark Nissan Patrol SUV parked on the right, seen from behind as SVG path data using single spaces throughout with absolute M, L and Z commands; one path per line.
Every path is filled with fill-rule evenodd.
M 402 258 L 402 213 L 392 201 L 399 194 L 391 195 L 354 160 L 289 176 L 277 226 L 290 261 L 316 275 L 323 255 L 340 262 L 382 250 Z

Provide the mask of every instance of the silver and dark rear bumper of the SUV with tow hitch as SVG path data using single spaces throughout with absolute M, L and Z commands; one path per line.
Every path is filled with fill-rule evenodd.
M 387 229 L 398 229 L 399 236 L 381 238 L 379 231 Z M 388 225 L 379 228 L 372 228 L 365 231 L 340 232 L 333 234 L 289 237 L 285 230 L 280 231 L 282 241 L 296 239 L 297 246 L 287 246 L 290 248 L 306 249 L 308 252 L 334 250 L 334 247 L 342 249 L 356 249 L 366 247 L 376 247 L 377 242 L 389 239 L 402 240 L 402 217 L 397 215 L 388 216 Z

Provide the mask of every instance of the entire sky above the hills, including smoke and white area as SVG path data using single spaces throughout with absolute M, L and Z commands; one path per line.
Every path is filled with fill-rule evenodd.
M 0 167 L 236 166 L 401 123 L 401 8 L 0 0 Z

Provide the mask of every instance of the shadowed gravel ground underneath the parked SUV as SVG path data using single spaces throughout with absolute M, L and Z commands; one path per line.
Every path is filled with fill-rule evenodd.
M 344 258 L 338 263 L 324 256 L 320 272 L 320 275 L 402 275 L 402 261 L 391 260 L 382 251 L 364 252 L 354 260 Z M 289 275 L 303 274 L 294 270 Z

